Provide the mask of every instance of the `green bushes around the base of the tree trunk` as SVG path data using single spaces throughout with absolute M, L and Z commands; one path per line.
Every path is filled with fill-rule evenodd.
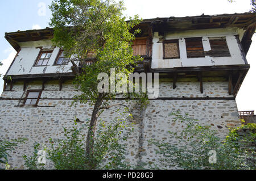
M 55 169 L 129 169 L 131 167 L 130 163 L 125 162 L 127 135 L 122 135 L 125 131 L 130 133 L 131 128 L 123 120 L 115 120 L 108 125 L 104 121 L 99 123 L 93 154 L 89 159 L 85 155 L 85 134 L 83 133 L 84 128 L 88 127 L 88 122 L 80 128 L 77 127 L 77 123 L 73 125 L 72 129 L 64 128 L 64 138 L 50 139 L 51 145 L 45 149 L 46 157 L 53 162 Z M 23 156 L 28 169 L 44 169 L 44 165 L 38 163 L 39 147 L 40 145 L 35 143 L 32 156 Z

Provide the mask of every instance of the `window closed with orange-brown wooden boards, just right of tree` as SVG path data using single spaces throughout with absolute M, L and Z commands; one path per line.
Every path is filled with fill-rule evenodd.
M 147 55 L 147 38 L 137 38 L 133 40 L 133 45 L 131 45 L 133 48 L 133 55 L 141 55 L 146 56 Z

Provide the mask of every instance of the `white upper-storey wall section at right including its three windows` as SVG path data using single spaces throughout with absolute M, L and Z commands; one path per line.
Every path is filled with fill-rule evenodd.
M 151 68 L 246 64 L 236 35 L 238 35 L 236 29 L 167 32 L 164 36 L 154 32 Z M 175 55 L 177 48 L 168 45 L 168 41 L 177 41 L 180 57 L 177 53 Z M 170 54 L 171 50 L 176 57 Z M 166 53 L 170 54 L 169 57 L 166 57 Z

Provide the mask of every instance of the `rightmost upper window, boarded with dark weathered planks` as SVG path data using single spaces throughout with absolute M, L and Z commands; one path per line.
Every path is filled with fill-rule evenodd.
M 230 57 L 229 47 L 225 37 L 209 37 L 210 48 L 208 52 L 211 57 Z

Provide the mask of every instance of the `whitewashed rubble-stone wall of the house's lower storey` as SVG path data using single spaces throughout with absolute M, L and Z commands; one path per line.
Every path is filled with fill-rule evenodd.
M 240 125 L 236 101 L 228 95 L 228 82 L 204 82 L 203 85 L 204 93 L 201 94 L 199 82 L 177 82 L 175 90 L 172 82 L 160 82 L 159 98 L 151 99 L 147 108 L 141 111 L 135 100 L 128 103 L 113 100 L 115 104 L 123 102 L 139 115 L 134 121 L 134 132 L 127 140 L 127 161 L 137 165 L 158 162 L 155 148 L 148 141 L 151 138 L 175 141 L 168 137 L 168 131 L 180 131 L 184 125 L 172 123 L 168 115 L 174 111 L 188 113 L 201 123 L 212 125 L 222 137 L 228 133 L 228 127 Z M 34 89 L 42 89 L 42 82 L 30 82 L 26 91 Z M 88 104 L 71 107 L 73 95 L 79 94 L 71 81 L 63 83 L 61 91 L 56 81 L 47 82 L 38 107 L 21 107 L 23 100 L 20 99 L 26 96 L 26 91 L 23 91 L 22 82 L 16 82 L 13 89 L 8 91 L 7 87 L 0 98 L 0 137 L 28 138 L 26 144 L 11 153 L 10 163 L 15 169 L 24 169 L 22 155 L 32 153 L 34 141 L 48 144 L 49 138 L 63 137 L 63 127 L 71 128 L 75 117 L 81 121 L 90 118 L 93 109 Z M 114 120 L 119 116 L 116 109 L 105 110 L 100 118 L 106 122 Z M 126 119 L 128 113 L 123 117 Z

